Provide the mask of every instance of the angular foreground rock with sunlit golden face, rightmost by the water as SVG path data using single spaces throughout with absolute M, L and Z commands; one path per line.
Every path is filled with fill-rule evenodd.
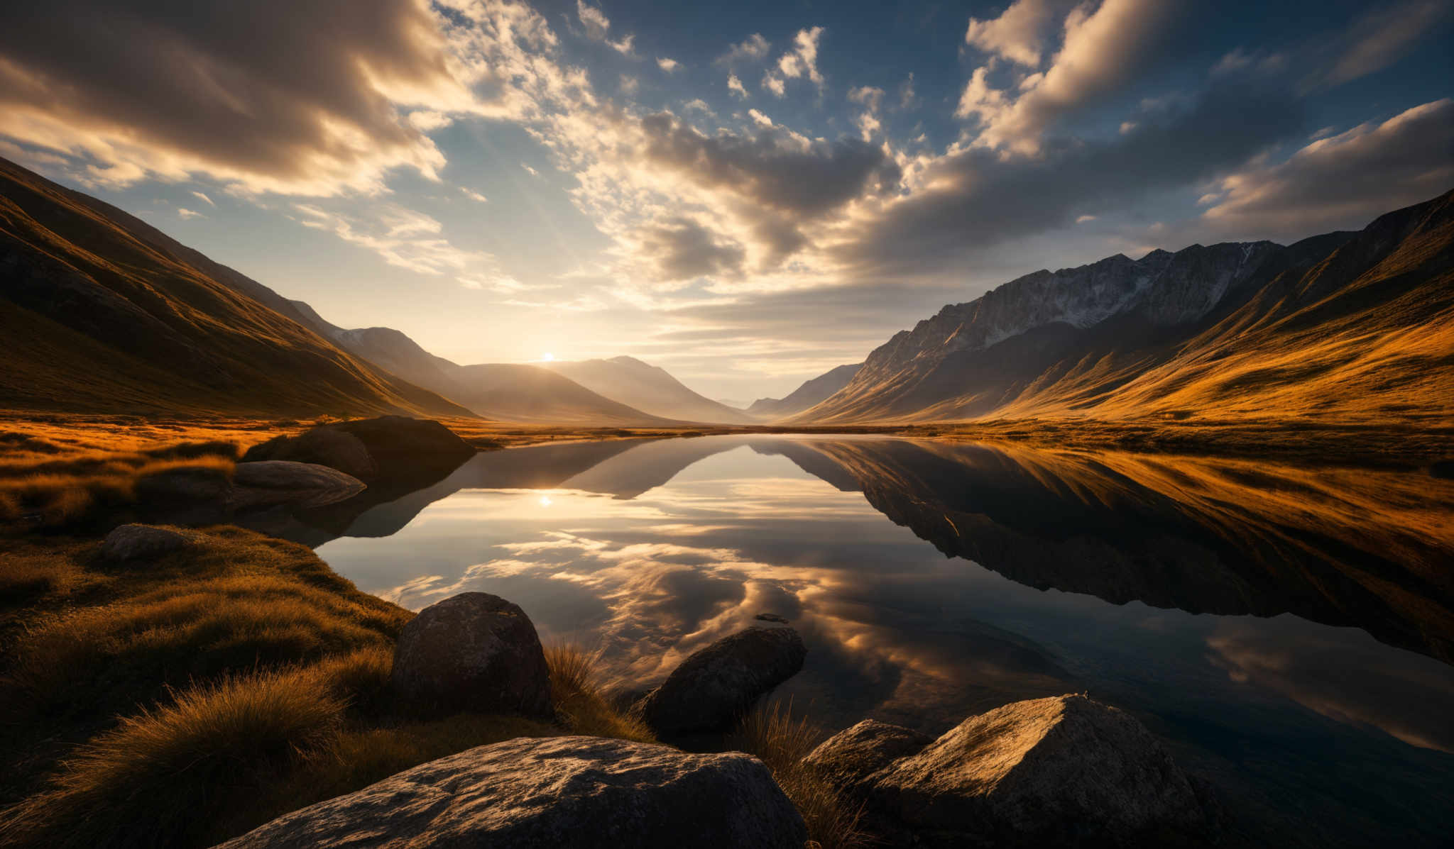
M 856 788 L 869 821 L 923 846 L 1197 845 L 1208 829 L 1156 737 L 1082 695 L 970 717 Z

